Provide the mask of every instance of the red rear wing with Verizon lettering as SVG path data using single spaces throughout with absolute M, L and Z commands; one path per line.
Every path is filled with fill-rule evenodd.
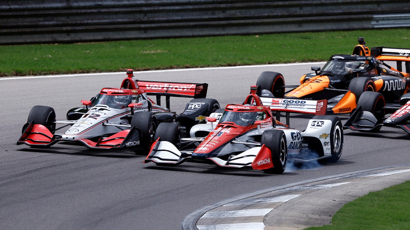
M 145 90 L 147 95 L 157 96 L 157 104 L 161 106 L 161 96 L 166 97 L 169 108 L 169 97 L 205 98 L 208 90 L 207 83 L 180 83 L 161 81 L 137 81 L 138 87 Z

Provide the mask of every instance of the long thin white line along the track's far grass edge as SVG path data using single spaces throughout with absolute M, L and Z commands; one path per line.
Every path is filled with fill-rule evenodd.
M 266 64 L 266 65 L 239 65 L 239 66 L 226 66 L 226 67 L 206 67 L 206 68 L 187 68 L 187 69 L 170 69 L 170 70 L 147 70 L 136 71 L 134 74 L 139 73 L 152 73 L 152 72 L 174 72 L 174 71 L 191 71 L 191 70 L 215 70 L 215 69 L 239 69 L 239 68 L 259 68 L 259 67 L 276 67 L 276 66 L 292 66 L 292 65 L 319 65 L 326 62 L 301 62 L 301 63 L 283 63 L 283 64 Z M 44 76 L 27 76 L 27 77 L 0 77 L 0 80 L 13 80 L 13 79 L 26 79 L 26 78 L 50 78 L 50 77 L 80 77 L 80 76 L 96 76 L 106 74 L 124 74 L 122 72 L 105 72 L 105 73 L 85 73 L 85 74 L 56 74 L 56 75 L 44 75 Z

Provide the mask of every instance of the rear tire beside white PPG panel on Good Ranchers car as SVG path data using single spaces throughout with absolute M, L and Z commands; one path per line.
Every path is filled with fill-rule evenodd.
M 334 115 L 318 115 L 312 118 L 313 120 L 330 120 L 330 153 L 331 156 L 326 158 L 327 162 L 336 162 L 342 156 L 343 151 L 343 126 L 339 117 Z M 323 150 L 322 150 L 323 151 Z

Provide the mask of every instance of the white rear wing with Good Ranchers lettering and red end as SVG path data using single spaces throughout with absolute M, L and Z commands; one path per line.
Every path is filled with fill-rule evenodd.
M 264 106 L 276 111 L 276 120 L 280 120 L 280 112 L 286 112 L 286 124 L 289 125 L 289 113 L 305 113 L 325 115 L 328 100 L 303 100 L 291 98 L 260 97 Z

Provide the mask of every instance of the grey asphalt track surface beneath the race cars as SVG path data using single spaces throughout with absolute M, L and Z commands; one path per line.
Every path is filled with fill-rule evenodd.
M 289 85 L 311 65 L 136 72 L 153 81 L 209 83 L 207 97 L 221 106 L 241 103 L 262 71 L 281 72 Z M 383 127 L 379 133 L 344 132 L 338 162 L 302 168 L 288 163 L 285 173 L 226 169 L 185 162 L 175 167 L 141 163 L 145 156 L 55 144 L 34 149 L 15 143 L 34 105 L 51 106 L 57 120 L 80 107 L 103 87 L 119 87 L 125 73 L 0 79 L 0 229 L 181 229 L 186 216 L 207 205 L 271 187 L 315 178 L 410 163 L 410 135 Z M 171 100 L 181 113 L 189 99 Z M 342 121 L 346 120 L 342 117 Z M 291 116 L 303 130 L 308 117 Z

